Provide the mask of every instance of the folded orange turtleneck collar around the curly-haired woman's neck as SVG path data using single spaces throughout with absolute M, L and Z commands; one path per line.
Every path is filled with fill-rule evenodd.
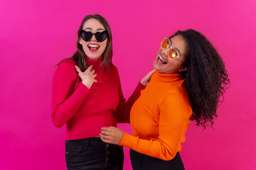
M 174 74 L 163 74 L 159 72 L 155 72 L 152 76 L 153 79 L 156 79 L 158 81 L 163 81 L 163 82 L 174 82 L 183 79 L 182 74 L 180 73 L 174 73 Z

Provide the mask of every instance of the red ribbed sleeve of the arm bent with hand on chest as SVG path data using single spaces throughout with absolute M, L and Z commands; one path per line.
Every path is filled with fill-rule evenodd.
M 64 60 L 53 76 L 52 120 L 58 128 L 75 115 L 89 89 L 78 81 L 75 62 Z

